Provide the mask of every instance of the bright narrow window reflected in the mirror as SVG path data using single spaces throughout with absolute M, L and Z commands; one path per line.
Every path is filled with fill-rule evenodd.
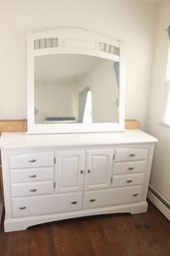
M 84 114 L 84 124 L 91 124 L 92 123 L 92 99 L 91 99 L 91 92 L 87 92 L 86 102 L 85 102 L 85 114 Z

